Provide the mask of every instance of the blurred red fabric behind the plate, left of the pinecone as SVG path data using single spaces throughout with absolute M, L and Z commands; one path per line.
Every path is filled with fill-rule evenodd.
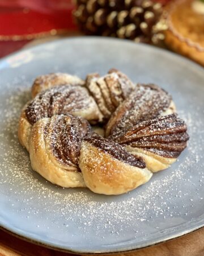
M 73 30 L 73 8 L 71 0 L 0 0 L 0 36 Z

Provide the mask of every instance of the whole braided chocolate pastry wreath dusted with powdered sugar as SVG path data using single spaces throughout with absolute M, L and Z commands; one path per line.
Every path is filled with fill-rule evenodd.
M 40 76 L 32 97 L 20 116 L 19 141 L 33 170 L 62 187 L 131 191 L 175 162 L 189 139 L 165 90 L 134 85 L 116 69 L 86 81 L 65 73 Z

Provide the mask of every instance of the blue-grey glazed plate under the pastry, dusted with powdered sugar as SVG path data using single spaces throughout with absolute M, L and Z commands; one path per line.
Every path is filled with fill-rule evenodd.
M 188 125 L 188 148 L 171 168 L 121 196 L 63 189 L 31 170 L 17 138 L 20 110 L 36 76 L 85 78 L 118 68 L 134 82 L 172 94 Z M 71 38 L 0 61 L 0 226 L 75 253 L 109 253 L 153 245 L 204 226 L 204 69 L 173 53 L 126 40 Z

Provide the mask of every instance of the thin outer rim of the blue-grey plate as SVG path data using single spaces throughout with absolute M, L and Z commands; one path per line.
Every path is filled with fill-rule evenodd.
M 122 39 L 117 39 L 117 38 L 108 38 L 108 37 L 103 37 L 101 38 L 100 36 L 72 36 L 72 37 L 69 37 L 69 38 L 62 38 L 62 39 L 57 39 L 57 40 L 53 40 L 53 41 L 50 41 L 50 42 L 45 42 L 45 43 L 41 43 L 37 46 L 32 46 L 32 47 L 29 47 L 29 48 L 23 48 L 23 49 L 20 49 L 19 51 L 16 51 L 14 53 L 11 53 L 5 57 L 3 57 L 2 59 L 0 59 L 0 64 L 3 63 L 4 61 L 7 61 L 8 59 L 10 59 L 10 57 L 13 57 L 13 56 L 16 56 L 18 55 L 19 53 L 22 53 L 22 52 L 26 52 L 26 51 L 35 51 L 35 49 L 38 49 L 38 48 L 41 48 L 41 47 L 46 47 L 46 45 L 50 45 L 50 44 L 58 44 L 60 42 L 70 42 L 70 41 L 73 41 L 73 40 L 80 40 L 81 42 L 83 40 L 96 40 L 96 41 L 117 41 L 118 43 L 121 43 L 121 44 L 135 44 L 135 46 L 137 47 L 142 47 L 142 48 L 150 48 L 150 49 L 153 49 L 154 51 L 156 52 L 159 52 L 159 53 L 162 53 L 164 56 L 166 57 L 171 57 L 173 58 L 174 60 L 180 60 L 182 61 L 182 63 L 185 62 L 185 64 L 189 64 L 191 65 L 192 67 L 194 67 L 195 69 L 199 69 L 199 71 L 202 71 L 203 72 L 203 67 L 197 63 L 194 63 L 194 61 L 192 60 L 189 60 L 187 59 L 186 57 L 184 56 L 180 56 L 178 55 L 177 53 L 174 53 L 174 52 L 170 52 L 170 51 L 167 51 L 167 49 L 162 49 L 162 48 L 158 48 L 158 47 L 155 47 L 155 46 L 150 46 L 150 45 L 147 45 L 147 44 L 143 44 L 143 43 L 134 43 L 130 40 L 122 40 Z M 82 42 L 83 43 L 83 42 Z M 3 68 L 0 67 L 0 71 L 2 70 Z M 188 222 L 186 222 L 187 224 Z M 3 229 L 5 230 L 6 232 L 8 233 L 11 233 L 12 235 L 22 239 L 22 240 L 25 240 L 25 241 L 28 241 L 28 242 L 31 242 L 31 243 L 35 243 L 37 245 L 40 245 L 40 246 L 44 246 L 44 247 L 48 247 L 50 249 L 53 249 L 53 250 L 58 250 L 58 251 L 63 251 L 63 252 L 69 252 L 69 253 L 75 253 L 75 254 L 111 254 L 111 253 L 124 253 L 124 252 L 130 252 L 130 251 L 135 251 L 135 250 L 138 250 L 138 249 L 143 249 L 145 247 L 149 247 L 149 246 L 153 246 L 153 245 L 158 245 L 159 243 L 163 243 L 163 242 L 167 242 L 167 241 L 170 241 L 170 240 L 174 240 L 176 238 L 179 238 L 181 236 L 185 236 L 186 234 L 189 234 L 189 233 L 192 233 L 198 229 L 201 229 L 204 227 L 204 219 L 200 222 L 200 224 L 194 224 L 192 225 L 192 228 L 190 229 L 187 229 L 185 231 L 180 231 L 180 232 L 177 232 L 177 234 L 172 234 L 172 235 L 166 235 L 165 237 L 163 238 L 159 238 L 157 240 L 155 240 L 155 242 L 143 242 L 141 243 L 141 246 L 124 246 L 124 249 L 104 249 L 104 250 L 100 250 L 100 251 L 94 251 L 94 250 L 87 250 L 87 251 L 82 251 L 82 250 L 77 250 L 77 249 L 71 249 L 69 246 L 66 247 L 66 246 L 62 246 L 62 245 L 57 245 L 57 243 L 55 242 L 49 242 L 49 241 L 45 241 L 41 238 L 33 238 L 31 237 L 29 234 L 26 235 L 25 233 L 26 232 L 23 232 L 23 230 L 18 230 L 16 229 L 15 227 L 10 227 L 9 225 L 7 224 L 2 224 L 0 222 L 0 229 Z

